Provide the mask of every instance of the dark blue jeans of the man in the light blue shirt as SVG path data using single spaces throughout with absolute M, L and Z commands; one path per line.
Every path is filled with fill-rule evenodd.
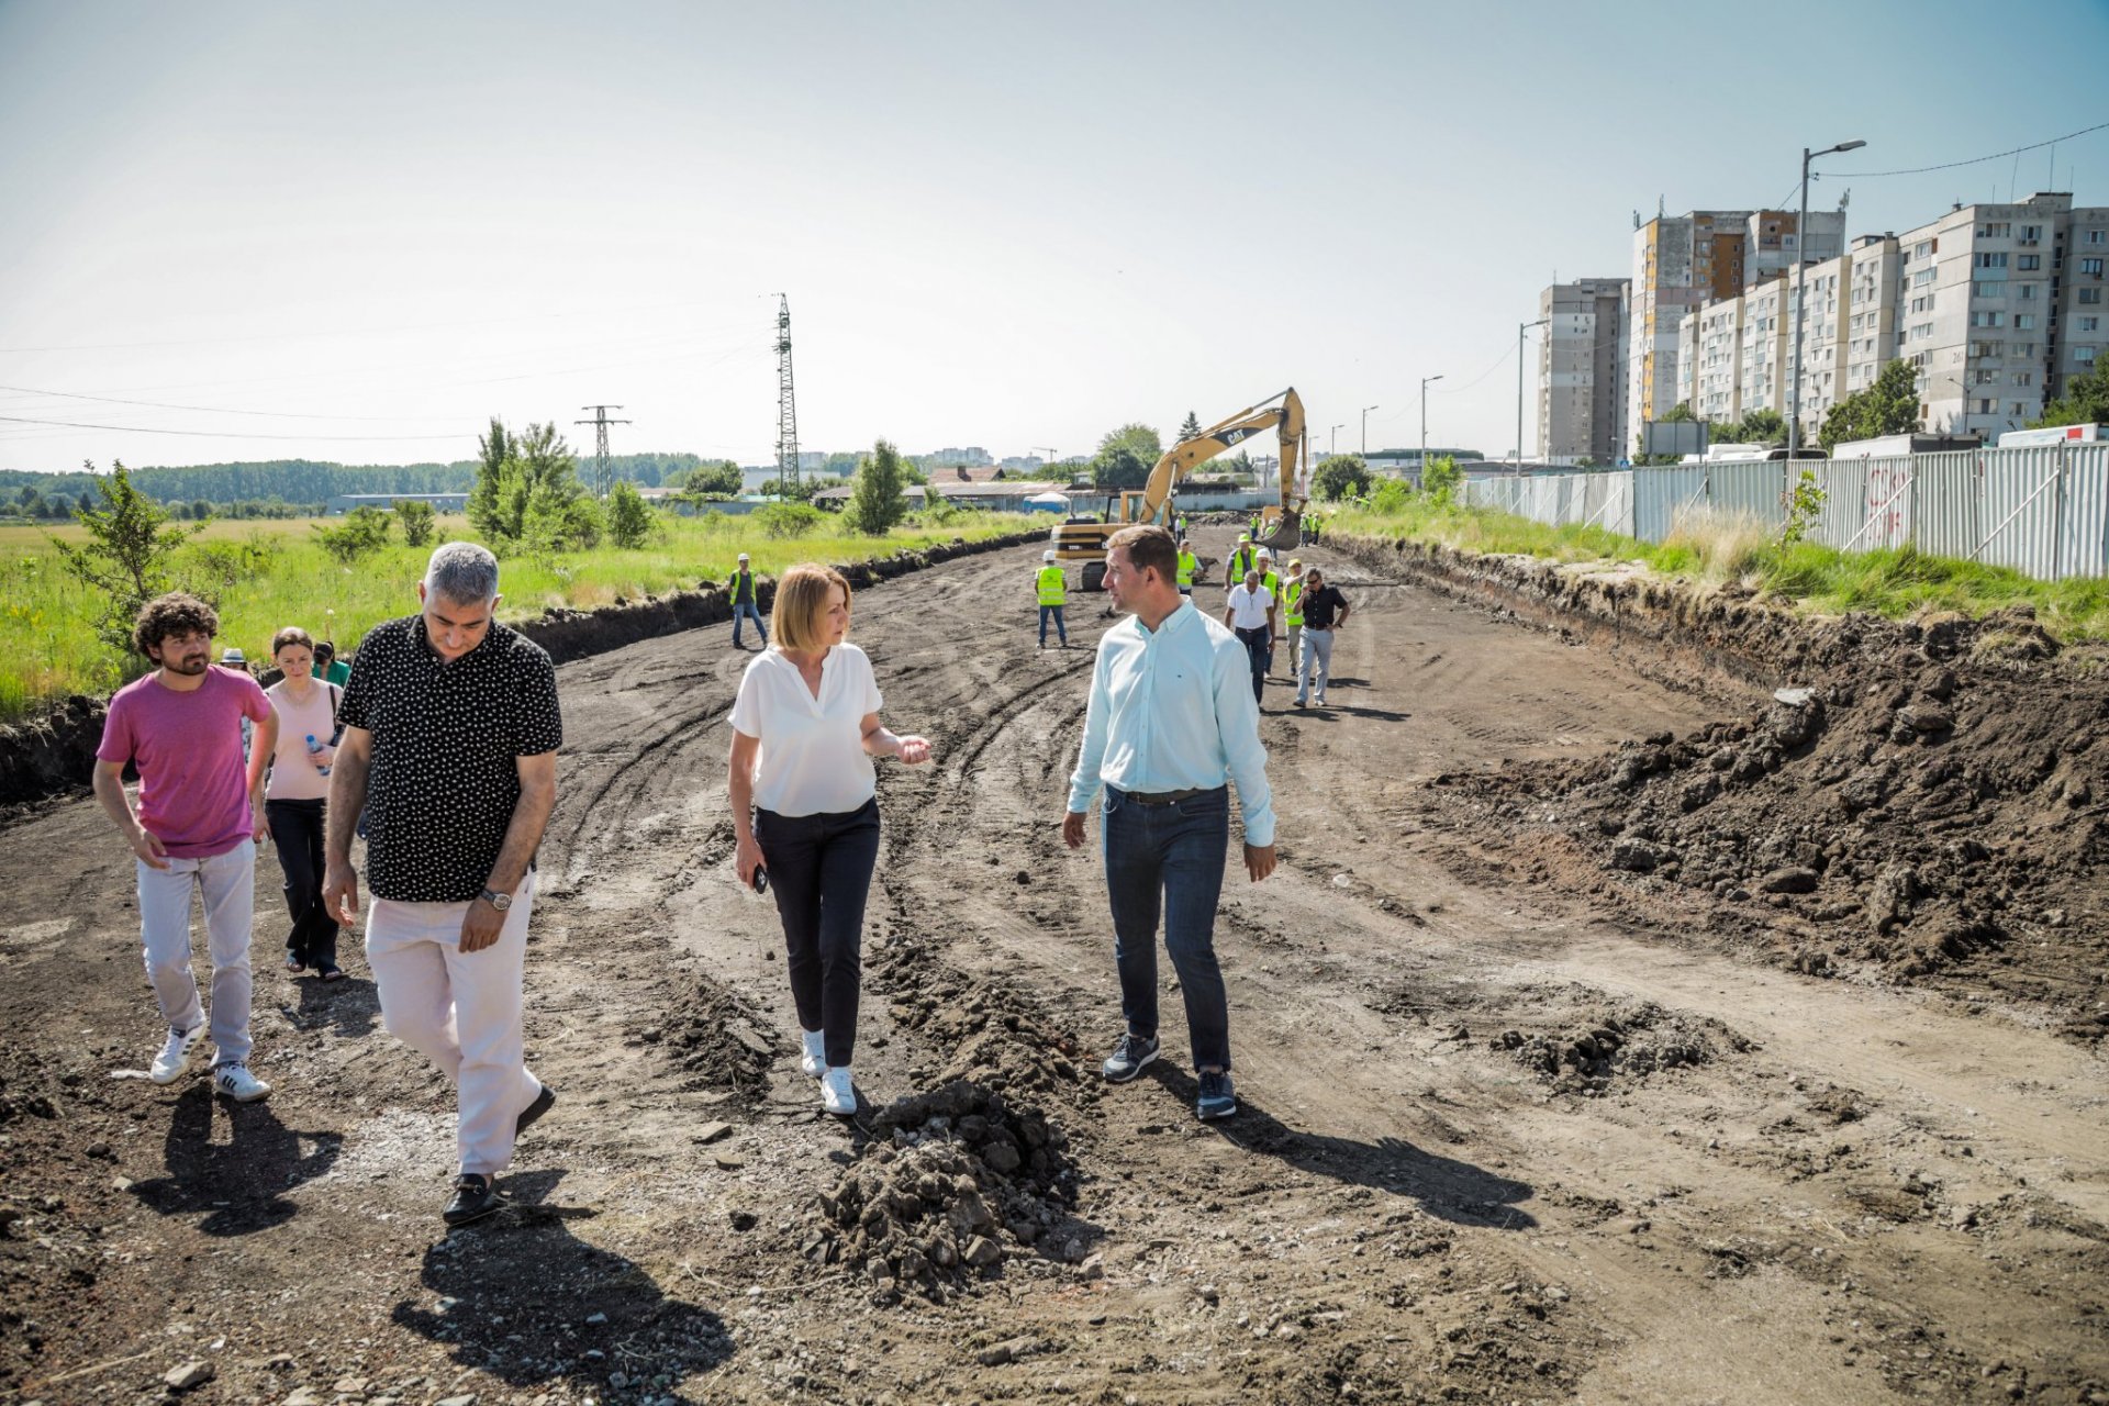
M 1105 892 L 1114 906 L 1120 1014 L 1130 1035 L 1158 1033 L 1158 915 L 1179 972 L 1194 1069 L 1230 1069 L 1230 999 L 1215 959 L 1215 904 L 1230 845 L 1230 788 L 1143 805 L 1105 788 Z

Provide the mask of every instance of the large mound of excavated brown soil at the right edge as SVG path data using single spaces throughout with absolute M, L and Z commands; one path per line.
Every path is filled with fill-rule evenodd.
M 1799 970 L 1968 970 L 2109 1033 L 2109 670 L 2025 607 L 1856 634 L 1748 717 L 1438 784 L 1620 883 L 1713 894 Z

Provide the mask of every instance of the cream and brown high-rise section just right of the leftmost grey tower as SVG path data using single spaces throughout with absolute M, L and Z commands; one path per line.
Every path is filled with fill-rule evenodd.
M 1702 304 L 1736 297 L 1755 211 L 1658 215 L 1632 232 L 1626 316 L 1626 426 L 1630 441 L 1677 405 L 1677 327 Z

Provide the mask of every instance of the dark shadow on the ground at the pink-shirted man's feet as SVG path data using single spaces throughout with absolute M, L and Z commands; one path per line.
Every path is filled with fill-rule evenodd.
M 226 1143 L 213 1140 L 213 1109 L 230 1124 Z M 314 1180 L 337 1159 L 344 1134 L 299 1132 L 272 1113 L 270 1102 L 215 1100 L 202 1079 L 175 1096 L 162 1147 L 167 1176 L 131 1185 L 139 1204 L 162 1216 L 200 1214 L 207 1235 L 251 1235 L 291 1221 L 299 1206 L 289 1187 Z

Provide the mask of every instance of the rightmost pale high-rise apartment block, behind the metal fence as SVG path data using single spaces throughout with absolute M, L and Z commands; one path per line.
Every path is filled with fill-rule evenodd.
M 2065 192 L 1961 204 L 1898 247 L 1898 354 L 1926 430 L 2016 430 L 2109 344 L 2109 209 Z

